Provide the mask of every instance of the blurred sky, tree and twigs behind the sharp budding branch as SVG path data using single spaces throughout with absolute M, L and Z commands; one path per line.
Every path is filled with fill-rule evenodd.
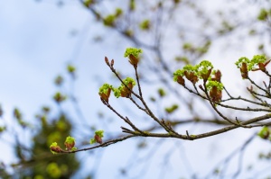
M 138 137 L 69 155 L 49 148 L 54 141 L 64 148 L 67 136 L 89 148 L 96 130 L 105 131 L 104 141 L 126 135 L 120 127 L 129 126 L 101 103 L 98 89 L 120 85 L 105 56 L 115 60 L 119 76 L 135 78 L 124 58 L 128 47 L 143 49 L 141 87 L 159 119 L 184 135 L 229 126 L 210 103 L 174 83 L 173 72 L 208 59 L 230 94 L 251 98 L 251 84 L 234 63 L 257 54 L 268 59 L 270 33 L 268 0 L 0 1 L 0 176 L 270 178 L 270 141 L 257 137 L 261 128 L 192 141 Z M 266 79 L 253 73 L 258 84 Z M 134 103 L 111 95 L 114 109 L 141 130 L 164 132 Z M 220 112 L 241 121 L 266 114 Z

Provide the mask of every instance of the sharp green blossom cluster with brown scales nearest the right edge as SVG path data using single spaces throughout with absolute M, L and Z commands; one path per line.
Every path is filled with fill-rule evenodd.
M 251 60 L 246 57 L 239 58 L 235 65 L 240 68 L 243 79 L 248 79 L 248 71 L 261 70 L 266 72 L 266 66 L 269 62 L 270 60 L 266 61 L 266 56 L 256 55 Z

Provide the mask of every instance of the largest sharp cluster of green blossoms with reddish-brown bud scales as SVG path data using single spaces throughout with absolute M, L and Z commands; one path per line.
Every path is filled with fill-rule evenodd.
M 185 79 L 188 79 L 195 85 L 200 79 L 206 84 L 210 99 L 219 103 L 222 98 L 223 84 L 221 83 L 220 70 L 213 70 L 213 66 L 208 60 L 201 61 L 196 66 L 186 65 L 173 73 L 173 80 L 180 85 L 185 86 Z M 201 86 L 201 85 L 200 85 Z

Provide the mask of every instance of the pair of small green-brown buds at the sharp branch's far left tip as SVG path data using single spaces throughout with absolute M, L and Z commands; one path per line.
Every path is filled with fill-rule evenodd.
M 75 139 L 70 136 L 66 138 L 64 145 L 65 145 L 67 151 L 77 150 L 77 148 L 74 147 L 75 146 Z M 50 146 L 50 149 L 51 149 L 52 154 L 58 154 L 58 153 L 65 151 L 60 146 L 58 146 L 57 142 L 53 142 Z

